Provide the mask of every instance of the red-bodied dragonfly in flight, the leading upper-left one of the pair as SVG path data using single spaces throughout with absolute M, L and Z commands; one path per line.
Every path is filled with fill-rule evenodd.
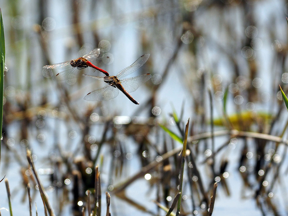
M 79 77 L 79 75 L 83 74 L 83 72 L 85 71 L 82 69 L 87 68 L 87 67 L 94 68 L 104 73 L 106 76 L 109 76 L 109 73 L 107 71 L 104 71 L 103 69 L 96 67 L 94 64 L 91 63 L 96 60 L 99 60 L 98 58 L 99 54 L 100 54 L 100 49 L 96 48 L 92 50 L 91 52 L 89 52 L 89 54 L 83 57 L 75 58 L 69 61 L 54 64 L 54 65 L 46 65 L 43 68 L 64 70 L 56 74 L 55 79 L 57 79 L 58 81 L 77 78 Z M 107 56 L 106 58 L 109 58 L 109 56 Z M 76 70 L 76 69 L 81 69 L 81 70 Z

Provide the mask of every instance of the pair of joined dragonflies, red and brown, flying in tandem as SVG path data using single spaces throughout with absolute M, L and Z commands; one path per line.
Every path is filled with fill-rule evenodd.
M 115 98 L 119 94 L 119 90 L 123 92 L 134 104 L 139 104 L 129 93 L 134 92 L 139 88 L 140 85 L 145 83 L 151 78 L 151 74 L 147 73 L 144 75 L 139 75 L 137 77 L 131 77 L 122 79 L 123 77 L 128 76 L 133 73 L 137 69 L 139 69 L 149 58 L 150 54 L 144 54 L 140 58 L 138 58 L 132 65 L 126 67 L 122 71 L 120 71 L 116 76 L 110 76 L 109 73 L 97 66 L 95 66 L 92 62 L 98 60 L 98 56 L 100 54 L 100 49 L 96 48 L 92 50 L 89 54 L 72 59 L 69 61 L 65 61 L 62 63 L 54 64 L 54 65 L 46 65 L 44 69 L 65 69 L 64 71 L 56 74 L 55 79 L 58 81 L 68 80 L 77 78 L 79 75 L 84 75 L 87 77 L 92 77 L 94 79 L 103 80 L 107 83 L 107 86 L 94 90 L 88 93 L 84 100 L 87 101 L 108 101 L 112 98 Z M 106 57 L 109 58 L 109 57 Z M 82 69 L 91 67 L 105 74 L 105 76 L 92 76 L 88 74 L 83 74 Z M 79 70 L 78 70 L 79 69 Z

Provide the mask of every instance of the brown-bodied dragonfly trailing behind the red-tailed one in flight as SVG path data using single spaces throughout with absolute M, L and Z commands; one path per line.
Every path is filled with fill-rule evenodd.
M 119 90 L 120 90 L 134 104 L 139 104 L 129 93 L 136 91 L 140 85 L 148 81 L 151 78 L 151 74 L 147 73 L 144 75 L 139 75 L 137 77 L 131 77 L 131 78 L 126 78 L 126 79 L 122 79 L 122 78 L 138 70 L 148 60 L 149 56 L 150 54 L 142 55 L 132 65 L 120 71 L 116 76 L 98 77 L 98 76 L 83 74 L 84 76 L 92 77 L 98 80 L 103 80 L 105 83 L 107 83 L 107 86 L 104 86 L 102 88 L 99 88 L 97 90 L 94 90 L 88 93 L 84 97 L 84 100 L 86 101 L 108 101 L 118 96 Z

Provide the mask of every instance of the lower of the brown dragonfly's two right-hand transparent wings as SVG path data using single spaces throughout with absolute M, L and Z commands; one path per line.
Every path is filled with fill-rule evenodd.
M 137 77 L 122 79 L 120 80 L 120 82 L 127 92 L 134 92 L 137 90 L 137 88 L 139 88 L 139 86 L 147 82 L 150 78 L 151 74 L 147 73 L 145 75 L 140 75 Z

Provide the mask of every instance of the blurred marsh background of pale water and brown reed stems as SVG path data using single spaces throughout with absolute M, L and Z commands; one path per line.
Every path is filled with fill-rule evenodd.
M 88 189 L 93 200 L 97 164 L 102 215 L 106 191 L 111 215 L 165 215 L 153 201 L 169 208 L 178 192 L 177 137 L 183 139 L 188 118 L 182 215 L 208 214 L 215 181 L 215 215 L 287 214 L 287 142 L 281 142 L 287 138 L 287 110 L 279 92 L 279 84 L 288 92 L 286 1 L 0 0 L 0 5 L 9 68 L 0 179 L 9 180 L 14 215 L 29 215 L 28 182 L 33 215 L 35 203 L 44 214 L 26 148 L 56 215 L 82 215 Z M 109 101 L 85 101 L 105 84 L 84 76 L 57 82 L 60 71 L 42 69 L 94 48 L 100 48 L 99 57 L 109 56 L 96 66 L 110 75 L 150 54 L 131 75 L 152 75 L 131 93 L 139 105 L 122 92 Z M 239 133 L 231 135 L 232 129 Z M 159 165 L 141 173 L 154 161 Z M 0 209 L 9 215 L 3 182 Z

